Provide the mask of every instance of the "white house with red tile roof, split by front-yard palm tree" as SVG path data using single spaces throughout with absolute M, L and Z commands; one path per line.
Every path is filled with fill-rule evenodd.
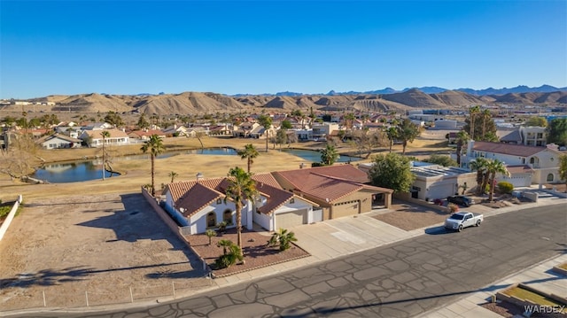
M 283 190 L 272 175 L 252 175 L 252 179 L 259 196 L 243 206 L 245 229 L 252 229 L 253 223 L 276 230 L 321 221 L 321 210 L 314 210 L 315 203 Z M 226 177 L 169 183 L 164 190 L 164 207 L 177 223 L 189 228 L 189 234 L 215 229 L 221 221 L 235 227 L 236 206 L 225 195 L 228 187 Z

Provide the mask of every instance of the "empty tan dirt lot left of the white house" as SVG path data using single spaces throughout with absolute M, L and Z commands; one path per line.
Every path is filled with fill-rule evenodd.
M 29 200 L 0 255 L 0 311 L 43 306 L 43 291 L 47 306 L 73 307 L 129 302 L 130 287 L 139 301 L 210 284 L 141 194 Z

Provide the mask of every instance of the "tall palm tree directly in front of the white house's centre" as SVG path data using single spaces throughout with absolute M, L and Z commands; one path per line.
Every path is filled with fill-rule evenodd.
M 241 167 L 233 167 L 229 170 L 229 186 L 226 190 L 226 198 L 234 201 L 237 210 L 237 245 L 242 250 L 242 207 L 243 202 L 253 199 L 258 194 L 256 182 L 252 175 L 245 172 Z

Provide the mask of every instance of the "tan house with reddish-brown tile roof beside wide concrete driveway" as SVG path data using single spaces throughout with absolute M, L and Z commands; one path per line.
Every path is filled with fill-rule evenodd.
M 369 185 L 368 175 L 351 165 L 276 171 L 272 175 L 283 190 L 321 206 L 323 221 L 366 213 L 377 206 L 387 208 L 392 203 L 393 190 Z

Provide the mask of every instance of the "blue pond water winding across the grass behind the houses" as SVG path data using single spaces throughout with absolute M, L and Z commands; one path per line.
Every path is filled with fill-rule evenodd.
M 274 151 L 274 150 L 270 150 Z M 276 150 L 277 151 L 277 150 Z M 305 159 L 310 162 L 320 162 L 321 152 L 319 151 L 307 151 L 300 149 L 282 149 L 284 152 L 290 152 L 291 154 L 298 156 L 299 158 Z M 237 155 L 237 150 L 229 147 L 221 148 L 205 148 L 196 149 L 190 151 L 171 151 L 167 153 L 160 154 L 157 159 L 163 159 L 172 157 L 178 154 L 199 154 L 199 155 Z M 261 153 L 260 153 L 261 155 Z M 120 160 L 131 160 L 131 159 L 150 159 L 149 154 L 124 156 L 120 158 L 114 158 L 113 161 Z M 350 156 L 340 156 L 338 162 L 348 162 L 357 161 L 360 158 L 350 157 Z M 102 179 L 102 159 L 85 160 L 85 161 L 74 161 L 74 162 L 59 162 L 49 165 L 44 165 L 43 167 L 37 169 L 34 175 L 31 177 L 39 180 L 46 180 L 51 183 L 65 183 L 65 182 L 81 182 Z M 109 172 L 105 172 L 105 177 L 107 178 L 117 178 L 120 175 L 112 175 Z

